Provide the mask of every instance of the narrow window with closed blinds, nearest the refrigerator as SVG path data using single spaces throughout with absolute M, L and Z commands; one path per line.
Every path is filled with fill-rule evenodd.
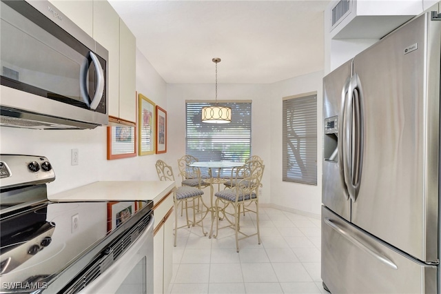
M 283 101 L 283 181 L 317 185 L 317 95 Z

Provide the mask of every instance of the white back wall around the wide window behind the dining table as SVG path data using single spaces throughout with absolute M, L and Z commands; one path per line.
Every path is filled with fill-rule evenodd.
M 218 101 L 252 100 L 252 154 L 263 158 L 267 171 L 271 169 L 270 89 L 267 84 L 218 84 Z M 185 100 L 214 101 L 214 98 L 214 84 L 167 85 L 168 136 L 171 143 L 167 157 L 171 159 L 174 170 L 177 170 L 176 160 L 185 155 Z M 265 172 L 261 202 L 269 203 L 269 189 L 269 172 Z

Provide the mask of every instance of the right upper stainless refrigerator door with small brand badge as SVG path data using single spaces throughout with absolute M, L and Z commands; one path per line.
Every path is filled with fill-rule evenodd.
M 351 222 L 425 262 L 438 261 L 440 25 L 424 14 L 353 59 L 365 115 Z

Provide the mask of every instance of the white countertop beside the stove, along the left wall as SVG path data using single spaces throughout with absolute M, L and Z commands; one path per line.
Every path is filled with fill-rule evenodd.
M 102 181 L 48 196 L 54 202 L 154 200 L 167 195 L 172 181 Z

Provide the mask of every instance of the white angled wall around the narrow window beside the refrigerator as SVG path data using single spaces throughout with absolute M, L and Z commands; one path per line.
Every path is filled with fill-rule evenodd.
M 271 204 L 302 213 L 320 215 L 322 200 L 322 77 L 313 72 L 271 85 Z M 282 181 L 282 99 L 317 92 L 317 186 Z

